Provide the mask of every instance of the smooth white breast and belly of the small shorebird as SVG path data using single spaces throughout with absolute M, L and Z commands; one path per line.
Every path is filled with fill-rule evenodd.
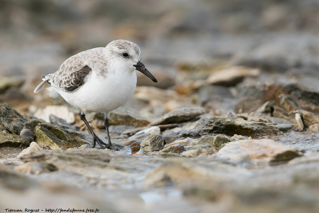
M 122 106 L 133 95 L 136 80 L 135 71 L 124 75 L 119 72 L 106 77 L 93 74 L 75 91 L 58 92 L 64 100 L 83 112 L 110 112 Z

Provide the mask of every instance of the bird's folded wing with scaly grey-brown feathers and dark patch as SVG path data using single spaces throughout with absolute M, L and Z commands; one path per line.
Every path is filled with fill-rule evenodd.
M 66 60 L 48 82 L 65 92 L 72 92 L 85 83 L 85 77 L 92 72 L 77 55 Z

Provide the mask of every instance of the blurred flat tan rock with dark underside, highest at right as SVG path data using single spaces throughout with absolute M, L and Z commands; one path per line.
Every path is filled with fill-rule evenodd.
M 242 82 L 245 77 L 258 77 L 259 75 L 259 69 L 237 66 L 211 73 L 207 82 L 214 85 L 231 87 Z

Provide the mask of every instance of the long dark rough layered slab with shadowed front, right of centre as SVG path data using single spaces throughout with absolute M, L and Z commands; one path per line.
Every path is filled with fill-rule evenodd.
M 223 133 L 226 135 L 263 136 L 278 133 L 279 129 L 271 123 L 247 121 L 238 117 L 215 116 L 208 120 L 202 133 Z

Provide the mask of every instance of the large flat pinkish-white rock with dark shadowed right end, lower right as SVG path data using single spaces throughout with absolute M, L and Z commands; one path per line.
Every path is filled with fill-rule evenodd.
M 225 144 L 217 156 L 233 161 L 255 161 L 269 164 L 287 162 L 302 153 L 296 148 L 276 143 L 270 139 L 241 140 Z

